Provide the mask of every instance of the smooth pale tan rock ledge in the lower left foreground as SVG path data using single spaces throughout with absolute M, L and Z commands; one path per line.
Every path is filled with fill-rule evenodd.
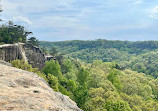
M 32 72 L 0 64 L 0 111 L 82 111 Z

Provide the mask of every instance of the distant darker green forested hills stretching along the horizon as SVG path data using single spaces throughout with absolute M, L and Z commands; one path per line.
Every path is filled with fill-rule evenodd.
M 158 77 L 158 41 L 61 41 L 40 42 L 41 48 L 49 52 L 55 47 L 67 58 L 78 58 L 86 63 L 94 60 L 116 62 L 121 69 L 132 70 Z

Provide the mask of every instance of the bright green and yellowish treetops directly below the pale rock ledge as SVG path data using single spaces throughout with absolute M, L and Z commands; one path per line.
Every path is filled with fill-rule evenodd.
M 116 63 L 51 60 L 41 72 L 23 60 L 11 63 L 45 78 L 54 91 L 69 96 L 84 111 L 158 111 L 158 79 L 119 70 Z

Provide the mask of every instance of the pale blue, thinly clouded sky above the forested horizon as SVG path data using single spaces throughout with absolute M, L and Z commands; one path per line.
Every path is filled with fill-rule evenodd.
M 158 0 L 1 0 L 3 23 L 41 41 L 158 40 Z

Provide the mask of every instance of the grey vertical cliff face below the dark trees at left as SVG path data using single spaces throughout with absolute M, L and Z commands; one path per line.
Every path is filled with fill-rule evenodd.
M 45 55 L 38 47 L 24 43 L 0 45 L 0 60 L 16 59 L 24 59 L 34 68 L 42 69 L 45 65 Z

